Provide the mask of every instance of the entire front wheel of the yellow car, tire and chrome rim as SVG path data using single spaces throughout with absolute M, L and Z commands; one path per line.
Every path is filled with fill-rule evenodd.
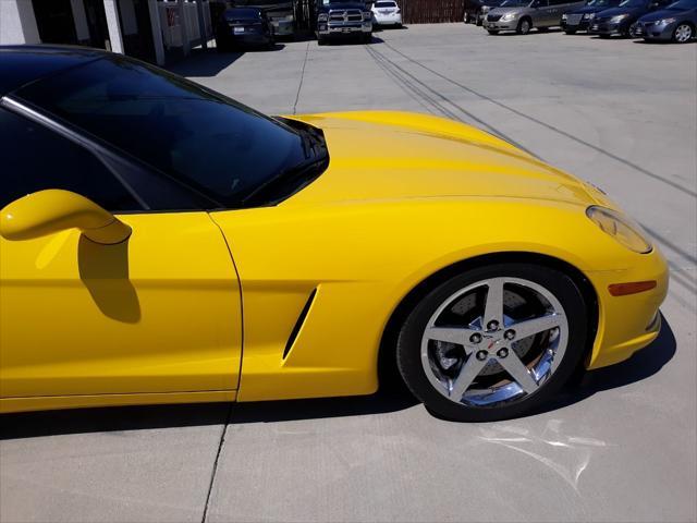
M 586 308 L 561 271 L 478 268 L 419 303 L 400 335 L 398 363 L 412 391 L 444 417 L 516 416 L 549 400 L 577 367 Z

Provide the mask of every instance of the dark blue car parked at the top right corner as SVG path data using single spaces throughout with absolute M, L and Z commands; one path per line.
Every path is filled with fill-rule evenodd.
M 668 8 L 641 16 L 632 26 L 632 36 L 645 40 L 673 40 L 686 44 L 695 38 L 697 0 L 680 0 Z

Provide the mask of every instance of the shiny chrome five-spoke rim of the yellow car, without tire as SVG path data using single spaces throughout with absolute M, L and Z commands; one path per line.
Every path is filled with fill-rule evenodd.
M 567 340 L 564 308 L 547 289 L 491 278 L 456 292 L 433 313 L 421 364 L 445 398 L 492 406 L 535 393 L 559 366 Z

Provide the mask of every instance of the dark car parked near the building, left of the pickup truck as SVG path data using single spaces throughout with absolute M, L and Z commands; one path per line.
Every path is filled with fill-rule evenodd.
M 225 51 L 239 46 L 271 49 L 273 29 L 266 13 L 256 8 L 233 8 L 222 13 L 216 26 L 216 46 Z

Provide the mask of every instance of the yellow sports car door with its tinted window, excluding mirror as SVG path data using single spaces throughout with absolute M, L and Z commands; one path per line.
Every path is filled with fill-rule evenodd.
M 98 156 L 1 107 L 0 157 L 0 207 L 64 188 L 133 230 L 117 245 L 0 238 L 2 398 L 237 388 L 240 285 L 207 212 L 147 211 Z

